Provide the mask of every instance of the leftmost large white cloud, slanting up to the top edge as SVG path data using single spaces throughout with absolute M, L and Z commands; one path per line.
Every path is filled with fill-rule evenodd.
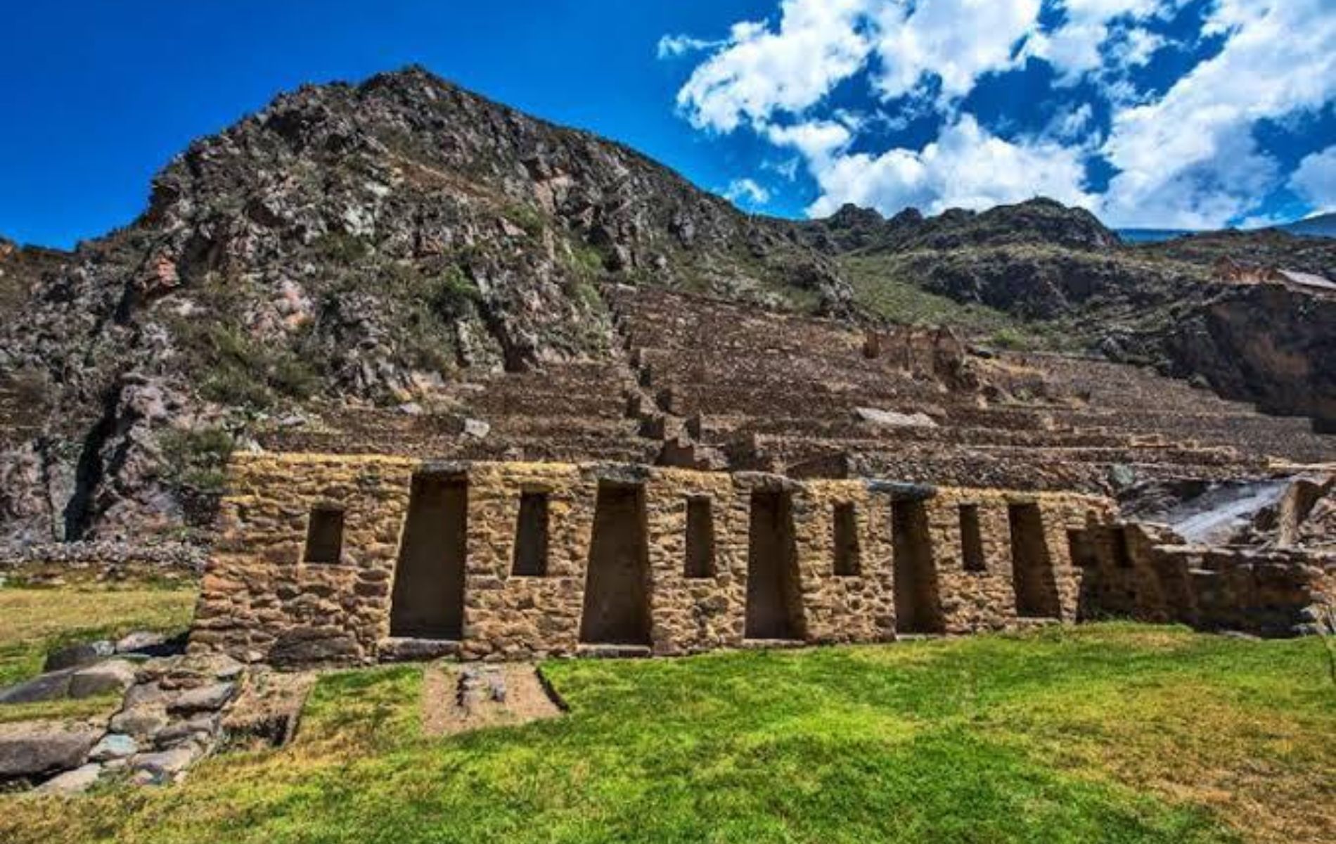
M 870 5 L 874 0 L 784 0 L 778 31 L 733 24 L 727 47 L 677 92 L 677 106 L 697 128 L 731 132 L 818 103 L 863 67 Z

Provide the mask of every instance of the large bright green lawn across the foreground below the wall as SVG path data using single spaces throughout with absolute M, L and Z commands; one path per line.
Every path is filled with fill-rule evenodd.
M 568 716 L 441 738 L 421 666 L 331 673 L 289 748 L 0 797 L 0 840 L 1336 840 L 1319 641 L 1110 624 L 545 672 Z

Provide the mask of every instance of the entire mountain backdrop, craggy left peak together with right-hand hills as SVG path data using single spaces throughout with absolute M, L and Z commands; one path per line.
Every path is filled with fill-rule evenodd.
M 1323 242 L 1303 243 L 1303 267 L 1328 266 Z M 207 525 L 227 453 L 261 423 L 612 359 L 616 284 L 982 342 L 1006 330 L 1336 419 L 1316 363 L 1336 337 L 1327 299 L 1253 302 L 1213 280 L 1222 255 L 1292 247 L 1130 247 L 1050 200 L 752 216 L 421 68 L 309 85 L 192 143 L 130 226 L 69 254 L 0 244 L 15 314 L 0 325 L 0 537 Z M 1259 343 L 1268 326 L 1283 333 Z

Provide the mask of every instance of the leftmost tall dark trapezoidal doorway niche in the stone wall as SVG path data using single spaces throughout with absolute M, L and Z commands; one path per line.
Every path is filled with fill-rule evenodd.
M 394 570 L 390 636 L 464 638 L 464 574 L 469 548 L 464 478 L 417 475 Z

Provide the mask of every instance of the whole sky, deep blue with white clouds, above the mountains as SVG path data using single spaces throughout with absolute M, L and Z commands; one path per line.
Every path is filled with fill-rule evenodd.
M 1118 226 L 1336 208 L 1336 0 L 497 0 L 5 11 L 0 235 L 131 222 L 192 138 L 421 63 L 787 216 L 1038 194 Z

